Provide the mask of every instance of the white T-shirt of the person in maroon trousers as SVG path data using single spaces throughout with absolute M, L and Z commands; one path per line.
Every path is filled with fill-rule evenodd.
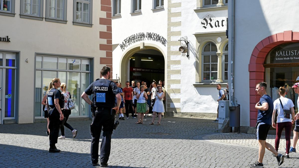
M 288 99 L 286 97 L 280 97 L 281 103 L 283 105 L 283 109 L 289 110 L 290 108 L 294 107 L 294 103 L 291 99 Z M 274 110 L 277 110 L 277 123 L 282 122 L 292 122 L 292 118 L 285 118 L 283 117 L 283 109 L 280 105 L 279 99 L 276 99 L 273 103 Z M 292 116 L 292 114 L 291 114 Z

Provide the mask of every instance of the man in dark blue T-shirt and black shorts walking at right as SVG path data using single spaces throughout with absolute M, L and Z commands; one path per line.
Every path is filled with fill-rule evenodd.
M 250 167 L 264 167 L 263 158 L 265 155 L 265 148 L 271 151 L 277 158 L 278 166 L 283 163 L 284 155 L 279 154 L 274 147 L 266 142 L 267 134 L 272 124 L 273 101 L 266 93 L 267 83 L 260 82 L 256 85 L 255 91 L 261 96 L 260 101 L 257 102 L 255 108 L 258 109 L 257 124 L 256 124 L 256 139 L 259 141 L 259 159 Z

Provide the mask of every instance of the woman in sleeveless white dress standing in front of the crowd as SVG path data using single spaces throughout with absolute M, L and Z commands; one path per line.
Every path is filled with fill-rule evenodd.
M 156 114 L 158 113 L 158 123 L 157 125 L 160 125 L 161 122 L 161 114 L 164 113 L 164 105 L 163 105 L 163 98 L 164 98 L 164 92 L 162 92 L 162 87 L 158 86 L 158 93 L 156 94 L 156 101 L 154 104 L 154 107 L 152 108 L 152 122 L 149 125 L 154 125 L 154 120 L 156 118 Z

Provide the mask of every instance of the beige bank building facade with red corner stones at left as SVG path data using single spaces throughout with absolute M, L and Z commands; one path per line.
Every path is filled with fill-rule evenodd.
M 90 117 L 80 96 L 112 65 L 111 1 L 5 0 L 0 20 L 0 123 L 43 119 L 55 77 L 76 104 L 71 117 Z

